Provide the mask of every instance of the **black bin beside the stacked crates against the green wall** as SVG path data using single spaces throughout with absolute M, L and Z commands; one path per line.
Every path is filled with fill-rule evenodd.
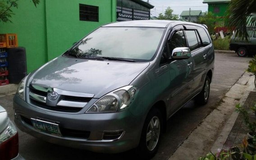
M 27 75 L 26 49 L 23 47 L 8 48 L 9 83 L 19 83 Z

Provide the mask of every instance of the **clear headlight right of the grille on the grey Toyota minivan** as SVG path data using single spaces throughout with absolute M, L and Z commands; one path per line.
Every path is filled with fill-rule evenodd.
M 120 112 L 125 110 L 132 104 L 133 100 L 138 94 L 137 86 L 124 86 L 115 91 L 112 91 L 87 110 L 89 113 L 95 112 Z

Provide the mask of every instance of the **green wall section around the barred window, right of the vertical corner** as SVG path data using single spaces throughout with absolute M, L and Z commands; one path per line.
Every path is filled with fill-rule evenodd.
M 79 3 L 99 6 L 99 22 L 79 21 Z M 97 27 L 115 22 L 115 4 L 115 0 L 46 0 L 48 60 Z

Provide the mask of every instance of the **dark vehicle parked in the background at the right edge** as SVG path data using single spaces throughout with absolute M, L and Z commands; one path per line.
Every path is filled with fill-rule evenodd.
M 235 37 L 235 34 L 231 37 L 229 49 L 235 51 L 238 56 L 245 57 L 256 51 L 256 29 L 247 29 L 247 34 L 248 41 Z

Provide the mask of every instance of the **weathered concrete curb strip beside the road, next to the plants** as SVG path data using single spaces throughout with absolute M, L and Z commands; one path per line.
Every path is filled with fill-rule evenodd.
M 217 153 L 221 150 L 238 117 L 238 113 L 234 111 L 235 104 L 245 102 L 251 90 L 251 84 L 253 83 L 249 73 L 242 74 L 225 94 L 223 102 L 202 120 L 201 124 L 169 157 L 169 160 L 185 160 L 187 157 L 197 160 L 209 151 Z

